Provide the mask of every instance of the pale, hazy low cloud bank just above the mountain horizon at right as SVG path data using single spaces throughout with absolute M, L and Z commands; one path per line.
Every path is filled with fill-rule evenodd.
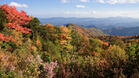
M 139 11 L 65 11 L 68 17 L 133 17 L 139 18 Z

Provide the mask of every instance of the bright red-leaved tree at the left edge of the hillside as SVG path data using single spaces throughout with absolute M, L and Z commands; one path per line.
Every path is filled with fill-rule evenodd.
M 0 9 L 3 10 L 6 18 L 8 20 L 7 27 L 10 29 L 15 29 L 23 33 L 30 33 L 31 29 L 23 27 L 31 21 L 31 17 L 21 10 L 19 12 L 15 7 L 8 6 L 7 4 L 1 5 Z

